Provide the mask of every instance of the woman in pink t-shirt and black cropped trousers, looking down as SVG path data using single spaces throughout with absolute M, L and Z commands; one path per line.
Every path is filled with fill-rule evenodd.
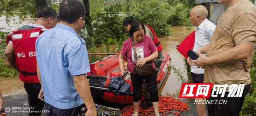
M 132 79 L 132 88 L 133 88 L 133 105 L 134 105 L 134 113 L 132 116 L 139 115 L 139 105 L 140 99 L 142 96 L 142 85 L 143 79 L 145 79 L 146 84 L 148 85 L 148 91 L 150 93 L 150 97 L 152 99 L 152 103 L 155 110 L 155 115 L 159 115 L 159 98 L 157 92 L 157 83 L 156 77 L 152 74 L 150 76 L 140 76 L 134 72 L 136 66 L 143 66 L 146 62 L 152 64 L 153 69 L 155 69 L 155 64 L 152 62 L 157 56 L 157 48 L 153 43 L 152 39 L 148 36 L 145 36 L 145 27 L 142 22 L 135 22 L 132 24 L 130 28 L 130 38 L 125 40 L 120 56 L 119 56 L 119 66 L 121 75 L 124 73 L 124 58 L 127 55 L 127 69 L 131 73 Z M 135 41 L 137 60 L 135 60 L 132 49 L 132 38 Z M 154 73 L 154 70 L 153 70 Z

